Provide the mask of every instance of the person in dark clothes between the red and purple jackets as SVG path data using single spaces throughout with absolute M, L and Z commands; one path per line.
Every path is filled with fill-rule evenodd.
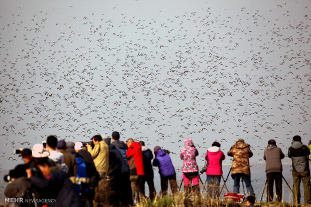
M 151 200 L 156 198 L 157 196 L 157 191 L 156 188 L 154 187 L 154 182 L 153 182 L 153 168 L 151 164 L 151 160 L 153 159 L 153 154 L 152 151 L 145 146 L 144 141 L 139 141 L 139 145 L 141 145 L 141 150 L 142 150 L 142 161 L 143 161 L 143 169 L 144 169 L 144 182 L 147 182 L 148 187 L 149 187 L 149 197 Z M 143 184 L 143 192 L 144 192 L 144 184 Z

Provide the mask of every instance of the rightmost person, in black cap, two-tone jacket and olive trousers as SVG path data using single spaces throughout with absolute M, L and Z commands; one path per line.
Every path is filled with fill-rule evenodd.
M 293 199 L 295 204 L 300 203 L 300 181 L 302 180 L 304 203 L 311 203 L 310 151 L 306 145 L 301 143 L 301 137 L 299 135 L 295 135 L 292 140 L 293 142 L 288 148 L 288 157 L 292 161 Z

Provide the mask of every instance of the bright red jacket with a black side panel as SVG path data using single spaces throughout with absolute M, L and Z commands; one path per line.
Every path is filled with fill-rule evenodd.
M 126 151 L 130 175 L 144 175 L 142 150 L 137 141 L 134 141 Z

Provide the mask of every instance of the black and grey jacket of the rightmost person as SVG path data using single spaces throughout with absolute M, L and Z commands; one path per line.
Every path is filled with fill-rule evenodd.
M 288 148 L 288 157 L 292 161 L 292 170 L 294 172 L 309 171 L 309 148 L 300 141 L 294 141 Z

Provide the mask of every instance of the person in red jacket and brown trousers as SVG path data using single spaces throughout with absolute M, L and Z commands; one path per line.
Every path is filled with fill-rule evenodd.
M 144 168 L 142 159 L 141 146 L 137 141 L 132 138 L 126 140 L 127 151 L 126 156 L 129 165 L 129 179 L 132 188 L 132 199 L 135 200 L 135 191 L 137 191 L 136 200 L 139 201 L 144 197 L 143 184 L 144 184 Z

